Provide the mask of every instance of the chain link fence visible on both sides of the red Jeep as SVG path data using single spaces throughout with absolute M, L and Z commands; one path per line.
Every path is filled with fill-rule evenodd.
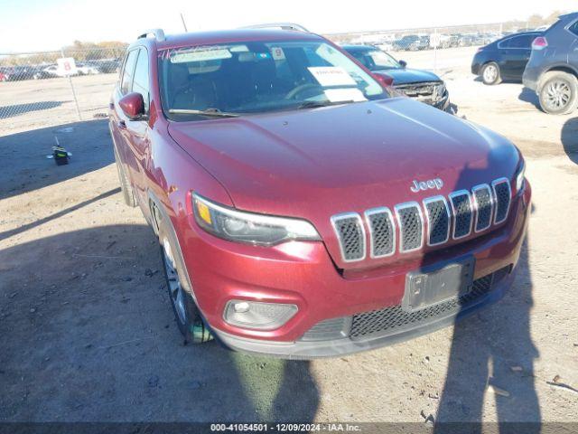
M 443 71 L 470 67 L 476 48 L 528 30 L 527 25 L 336 33 L 341 44 L 371 44 L 412 68 Z M 0 53 L 0 135 L 104 117 L 123 48 Z

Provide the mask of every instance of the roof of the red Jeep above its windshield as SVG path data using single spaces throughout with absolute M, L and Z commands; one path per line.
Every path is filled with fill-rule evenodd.
M 294 30 L 271 29 L 238 29 L 212 32 L 180 33 L 166 35 L 163 41 L 154 38 L 138 39 L 134 42 L 155 42 L 158 50 L 186 47 L 191 45 L 208 45 L 212 43 L 228 42 L 256 42 L 256 41 L 319 41 L 321 36 L 314 33 L 304 33 Z

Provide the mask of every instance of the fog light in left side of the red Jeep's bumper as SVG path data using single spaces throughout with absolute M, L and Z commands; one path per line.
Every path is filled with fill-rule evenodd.
M 224 318 L 230 325 L 273 330 L 289 321 L 297 310 L 295 305 L 230 300 L 225 307 Z

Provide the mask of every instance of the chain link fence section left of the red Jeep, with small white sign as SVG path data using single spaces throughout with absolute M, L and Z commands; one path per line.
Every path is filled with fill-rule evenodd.
M 124 50 L 0 53 L 0 135 L 106 116 Z

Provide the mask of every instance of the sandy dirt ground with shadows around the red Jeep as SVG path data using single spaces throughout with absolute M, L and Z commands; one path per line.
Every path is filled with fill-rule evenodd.
M 122 203 L 107 121 L 3 129 L 0 420 L 576 421 L 578 393 L 551 383 L 578 388 L 578 113 L 547 116 L 520 84 L 445 65 L 459 115 L 527 157 L 515 285 L 455 326 L 329 360 L 183 345 L 153 232 Z M 54 134 L 70 165 L 44 157 Z

